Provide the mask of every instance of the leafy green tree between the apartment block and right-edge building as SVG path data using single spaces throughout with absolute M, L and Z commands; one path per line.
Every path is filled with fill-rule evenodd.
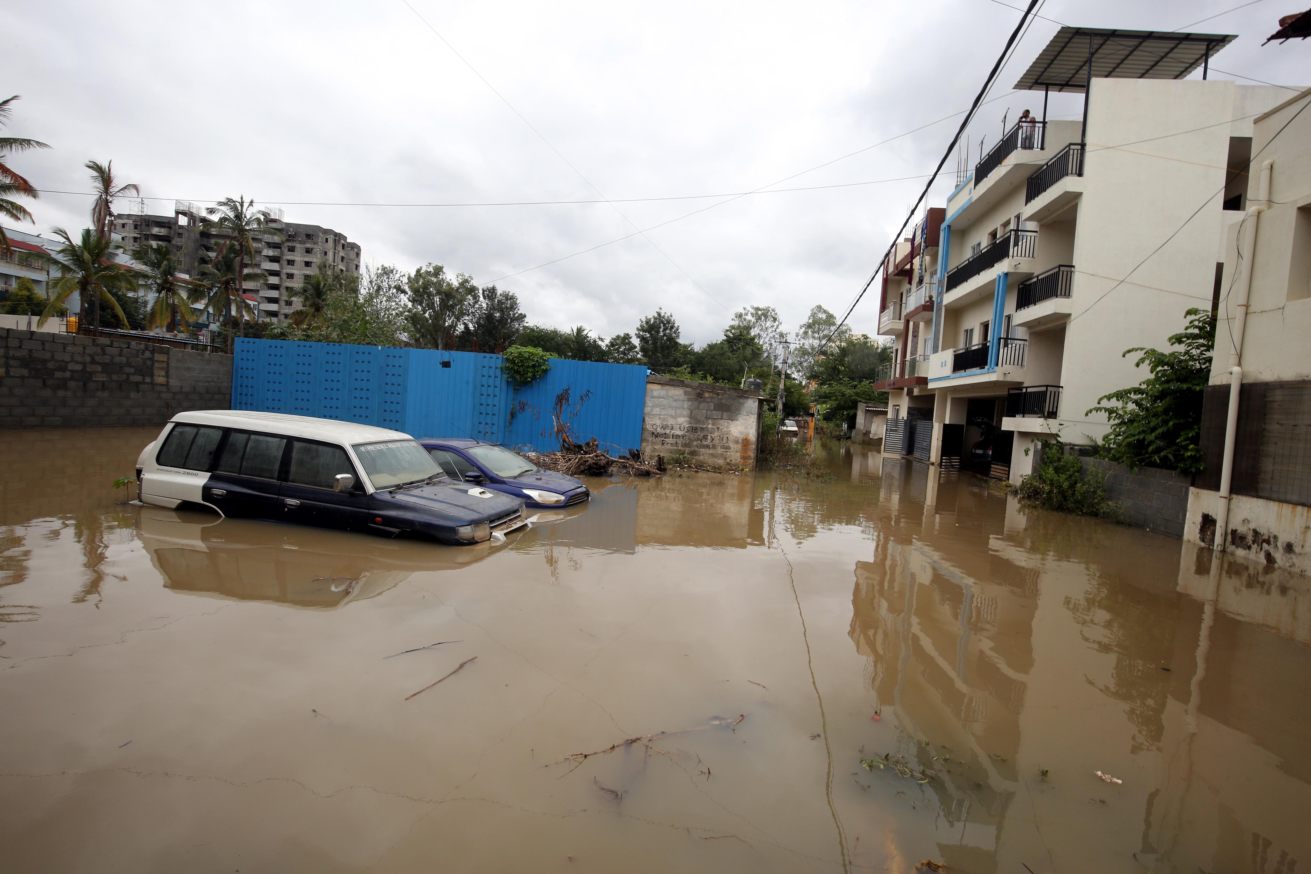
M 1184 313 L 1188 324 L 1168 338 L 1172 349 L 1162 352 L 1146 346 L 1126 349 L 1139 352 L 1134 367 L 1147 364 L 1151 376 L 1138 385 L 1103 394 L 1097 406 L 1084 415 L 1104 413 L 1110 431 L 1103 440 L 1103 453 L 1130 468 L 1167 468 L 1200 473 L 1202 464 L 1202 396 L 1211 375 L 1211 349 L 1215 343 L 1215 317 L 1196 307 Z M 1114 406 L 1106 406 L 1110 401 Z

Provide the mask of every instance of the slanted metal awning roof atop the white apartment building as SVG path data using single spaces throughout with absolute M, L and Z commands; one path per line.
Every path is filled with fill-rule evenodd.
M 1016 89 L 1083 92 L 1089 37 L 1093 79 L 1183 79 L 1238 39 L 1222 33 L 1061 28 Z

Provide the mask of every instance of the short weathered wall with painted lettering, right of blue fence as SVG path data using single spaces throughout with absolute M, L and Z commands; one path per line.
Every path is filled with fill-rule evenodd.
M 686 455 L 707 465 L 754 468 L 762 402 L 759 392 L 652 373 L 642 455 Z

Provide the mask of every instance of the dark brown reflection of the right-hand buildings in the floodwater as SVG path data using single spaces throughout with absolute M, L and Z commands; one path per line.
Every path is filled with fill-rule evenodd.
M 1177 540 L 1025 512 L 971 476 L 878 478 L 850 637 L 901 752 L 939 774 L 949 869 L 1093 870 L 1089 835 L 1101 870 L 1311 862 L 1308 580 L 1181 562 Z

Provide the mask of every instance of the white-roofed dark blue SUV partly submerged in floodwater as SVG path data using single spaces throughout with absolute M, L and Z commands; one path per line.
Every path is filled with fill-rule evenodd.
M 283 413 L 180 413 L 142 451 L 143 503 L 444 544 L 524 528 L 523 502 L 452 481 L 408 434 Z

